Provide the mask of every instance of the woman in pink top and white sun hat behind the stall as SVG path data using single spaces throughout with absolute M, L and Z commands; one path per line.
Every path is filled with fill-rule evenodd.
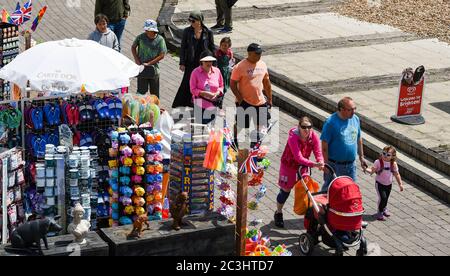
M 216 117 L 217 103 L 223 96 L 223 77 L 219 68 L 213 66 L 216 58 L 205 51 L 201 54 L 200 66 L 191 75 L 190 86 L 194 115 L 197 123 L 208 124 Z M 197 111 L 201 109 L 201 112 Z M 199 118 L 201 114 L 201 118 Z

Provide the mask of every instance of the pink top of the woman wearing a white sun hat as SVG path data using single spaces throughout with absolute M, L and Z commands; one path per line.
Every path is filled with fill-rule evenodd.
M 209 89 L 205 89 L 207 84 L 209 85 Z M 213 109 L 215 105 L 200 97 L 201 91 L 209 91 L 223 95 L 223 77 L 219 68 L 214 66 L 211 67 L 211 72 L 209 73 L 206 73 L 201 66 L 195 68 L 192 71 L 190 86 L 193 103 L 203 109 Z

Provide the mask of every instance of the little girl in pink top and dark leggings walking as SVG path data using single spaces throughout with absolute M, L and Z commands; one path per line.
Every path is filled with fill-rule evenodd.
M 375 177 L 375 189 L 378 194 L 378 213 L 377 220 L 386 220 L 390 214 L 387 210 L 389 196 L 392 190 L 392 182 L 397 180 L 400 186 L 400 191 L 403 192 L 403 183 L 400 174 L 398 173 L 397 165 L 397 151 L 392 146 L 386 146 L 383 149 L 380 158 L 373 163 L 373 167 L 366 169 L 366 172 L 371 175 L 377 173 Z

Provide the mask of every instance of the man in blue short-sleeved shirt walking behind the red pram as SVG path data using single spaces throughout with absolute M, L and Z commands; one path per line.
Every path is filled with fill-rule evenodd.
M 338 111 L 331 115 L 322 129 L 322 152 L 325 163 L 337 176 L 349 176 L 356 182 L 356 156 L 361 166 L 367 168 L 364 160 L 363 142 L 359 117 L 355 115 L 356 105 L 352 98 L 345 97 L 338 103 Z M 327 191 L 333 180 L 330 172 L 324 174 L 322 191 Z

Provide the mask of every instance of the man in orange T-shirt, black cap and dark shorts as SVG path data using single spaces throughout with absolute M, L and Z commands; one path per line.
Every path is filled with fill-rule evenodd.
M 236 96 L 236 124 L 234 136 L 238 145 L 238 134 L 250 128 L 250 118 L 256 125 L 257 135 L 252 137 L 251 147 L 260 139 L 260 132 L 270 120 L 272 107 L 272 85 L 267 65 L 261 60 L 262 48 L 252 43 L 247 48 L 247 59 L 239 62 L 231 74 L 230 87 Z

